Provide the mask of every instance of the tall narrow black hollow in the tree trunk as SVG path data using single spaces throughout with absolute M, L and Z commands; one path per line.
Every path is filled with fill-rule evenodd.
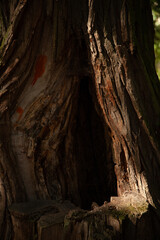
M 84 77 L 80 82 L 73 141 L 80 205 L 84 209 L 90 208 L 92 202 L 101 205 L 117 195 L 111 138 L 106 137 L 103 121 L 95 109 L 89 81 Z

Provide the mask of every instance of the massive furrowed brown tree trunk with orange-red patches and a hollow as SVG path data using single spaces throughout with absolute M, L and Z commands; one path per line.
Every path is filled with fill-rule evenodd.
M 16 219 L 65 215 L 73 208 L 65 200 L 89 209 L 134 193 L 158 216 L 149 0 L 1 1 L 0 19 L 1 239 L 22 239 Z M 28 222 L 26 239 L 44 239 L 43 221 Z

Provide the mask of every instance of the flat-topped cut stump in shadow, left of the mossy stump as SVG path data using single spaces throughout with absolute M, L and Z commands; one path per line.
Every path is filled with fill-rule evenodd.
M 10 207 L 14 240 L 62 240 L 63 222 L 69 210 L 75 206 L 52 200 L 39 200 L 13 204 Z

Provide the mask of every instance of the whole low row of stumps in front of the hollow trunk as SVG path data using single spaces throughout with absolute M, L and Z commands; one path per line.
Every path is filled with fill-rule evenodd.
M 152 240 L 160 237 L 159 220 L 153 208 L 137 193 L 111 197 L 110 202 L 102 206 L 94 202 L 88 211 L 68 201 L 41 200 L 13 204 L 10 213 L 14 240 Z

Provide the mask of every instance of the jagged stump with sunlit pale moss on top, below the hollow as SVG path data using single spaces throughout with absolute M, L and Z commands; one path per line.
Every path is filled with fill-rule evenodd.
M 159 239 L 159 220 L 140 194 L 111 197 L 91 211 L 71 211 L 65 218 L 65 240 Z

